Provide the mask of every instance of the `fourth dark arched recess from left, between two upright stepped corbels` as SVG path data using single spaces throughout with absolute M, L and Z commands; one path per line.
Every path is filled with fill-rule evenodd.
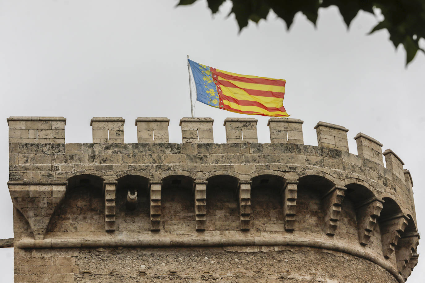
M 239 179 L 231 175 L 215 175 L 207 181 L 205 230 L 239 230 Z

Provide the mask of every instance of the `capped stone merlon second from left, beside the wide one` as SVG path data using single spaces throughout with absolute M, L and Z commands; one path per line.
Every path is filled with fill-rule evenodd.
M 124 122 L 122 117 L 93 117 L 93 143 L 124 143 Z

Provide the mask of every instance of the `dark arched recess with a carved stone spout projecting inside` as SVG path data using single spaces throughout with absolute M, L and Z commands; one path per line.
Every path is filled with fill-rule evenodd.
M 124 175 L 116 185 L 116 225 L 118 231 L 143 232 L 150 227 L 149 179 Z

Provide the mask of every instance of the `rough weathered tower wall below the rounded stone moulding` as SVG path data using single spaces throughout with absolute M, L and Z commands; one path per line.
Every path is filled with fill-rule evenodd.
M 94 283 L 397 283 L 385 269 L 363 258 L 303 247 L 60 249 L 60 256 L 40 249 L 28 264 L 34 265 L 17 268 L 17 282 L 43 278 L 27 274 L 39 270 L 68 273 L 45 275 L 48 281 Z

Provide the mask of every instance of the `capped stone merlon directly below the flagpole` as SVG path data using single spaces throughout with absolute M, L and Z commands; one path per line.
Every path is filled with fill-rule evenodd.
M 211 118 L 181 118 L 181 138 L 183 143 L 213 143 Z

